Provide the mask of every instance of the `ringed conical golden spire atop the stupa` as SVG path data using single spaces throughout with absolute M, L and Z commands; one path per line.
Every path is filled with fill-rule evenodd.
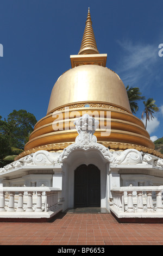
M 92 20 L 90 15 L 90 8 L 88 10 L 87 19 L 85 22 L 85 30 L 83 34 L 82 44 L 78 54 L 98 54 L 95 35 L 92 28 Z

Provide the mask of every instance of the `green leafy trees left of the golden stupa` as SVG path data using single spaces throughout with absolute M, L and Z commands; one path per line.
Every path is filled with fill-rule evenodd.
M 14 110 L 7 120 L 0 116 L 0 167 L 12 162 L 23 151 L 37 120 L 26 110 Z

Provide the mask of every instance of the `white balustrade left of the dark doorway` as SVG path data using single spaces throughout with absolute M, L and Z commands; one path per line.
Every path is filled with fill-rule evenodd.
M 59 191 L 52 187 L 0 187 L 0 217 L 1 212 L 54 211 L 58 207 Z

